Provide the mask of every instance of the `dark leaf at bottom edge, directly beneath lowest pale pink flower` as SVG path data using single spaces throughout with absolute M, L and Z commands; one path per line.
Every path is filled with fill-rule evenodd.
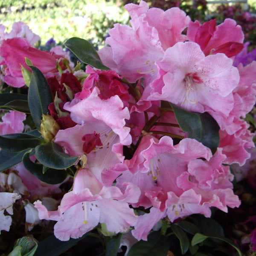
M 79 241 L 84 239 L 86 236 L 89 235 L 88 233 L 85 233 L 84 236 L 73 239 L 70 238 L 69 241 L 60 241 L 55 236 L 49 236 L 47 239 L 44 239 L 38 244 L 38 248 L 35 252 L 34 256 L 58 256 L 61 255 L 61 253 L 64 253 L 66 250 L 73 247 L 75 244 L 77 244 Z

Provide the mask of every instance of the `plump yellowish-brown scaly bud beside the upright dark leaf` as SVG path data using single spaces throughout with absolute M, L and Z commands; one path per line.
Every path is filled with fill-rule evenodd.
M 41 121 L 41 134 L 46 142 L 52 141 L 57 134 L 60 126 L 50 115 L 44 115 Z

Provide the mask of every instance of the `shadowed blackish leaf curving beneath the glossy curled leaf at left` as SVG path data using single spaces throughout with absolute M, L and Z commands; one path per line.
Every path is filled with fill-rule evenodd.
M 48 184 L 58 184 L 61 183 L 67 177 L 66 170 L 56 170 L 48 168 L 46 172 L 43 173 L 44 166 L 42 164 L 34 163 L 29 159 L 30 152 L 27 151 L 23 156 L 23 164 L 32 175 L 38 177 L 39 180 L 42 180 Z

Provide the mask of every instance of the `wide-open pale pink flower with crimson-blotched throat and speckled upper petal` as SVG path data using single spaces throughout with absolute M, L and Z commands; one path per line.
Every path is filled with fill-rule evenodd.
M 157 62 L 163 76 L 150 86 L 148 100 L 166 100 L 188 111 L 214 109 L 228 116 L 239 72 L 224 54 L 206 56 L 198 44 L 177 43 Z

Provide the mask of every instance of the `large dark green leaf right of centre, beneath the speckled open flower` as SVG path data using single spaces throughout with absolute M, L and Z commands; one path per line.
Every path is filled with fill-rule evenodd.
M 198 140 L 211 149 L 214 154 L 220 143 L 219 126 L 208 113 L 189 112 L 170 103 L 180 128 L 188 137 Z

